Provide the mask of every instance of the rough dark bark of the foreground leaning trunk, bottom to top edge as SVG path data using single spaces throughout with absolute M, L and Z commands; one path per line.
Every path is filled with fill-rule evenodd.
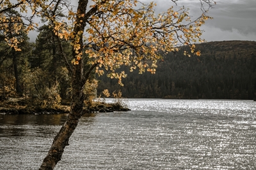
M 77 7 L 77 15 L 84 14 L 86 11 L 88 0 L 79 0 Z M 77 23 L 81 18 L 77 17 Z M 84 30 L 84 24 L 76 24 L 74 27 L 74 32 L 77 34 L 79 31 Z M 83 35 L 80 36 L 79 44 L 83 46 Z M 74 49 L 74 48 L 72 48 Z M 83 49 L 80 49 L 80 52 Z M 76 51 L 72 51 L 72 56 L 76 59 Z M 70 113 L 68 115 L 67 121 L 61 127 L 60 132 L 56 135 L 53 140 L 52 146 L 40 166 L 40 170 L 52 170 L 56 164 L 61 160 L 61 156 L 64 152 L 65 146 L 68 146 L 68 140 L 74 130 L 77 127 L 79 118 L 83 115 L 84 106 L 84 71 L 83 71 L 83 60 L 79 60 L 79 64 L 73 65 L 72 69 L 72 104 L 70 108 Z

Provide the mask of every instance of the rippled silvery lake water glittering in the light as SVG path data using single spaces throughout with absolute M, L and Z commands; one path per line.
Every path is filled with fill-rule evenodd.
M 125 102 L 81 118 L 55 169 L 256 169 L 256 102 Z M 0 169 L 38 169 L 65 118 L 0 115 Z

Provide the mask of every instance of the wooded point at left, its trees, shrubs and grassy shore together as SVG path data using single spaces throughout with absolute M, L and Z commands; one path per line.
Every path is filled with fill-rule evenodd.
M 35 43 L 30 43 L 26 34 L 20 34 L 24 39 L 19 45 L 21 51 L 13 50 L 0 38 L 0 113 L 47 114 L 70 111 L 72 71 L 67 60 L 72 60 L 72 48 L 69 42 L 61 40 L 64 59 L 52 29 L 44 25 L 38 31 Z M 89 67 L 85 64 L 84 70 Z M 115 103 L 95 101 L 97 86 L 93 69 L 83 88 L 84 112 L 129 110 L 117 99 L 121 100 L 122 95 L 111 96 L 116 98 Z

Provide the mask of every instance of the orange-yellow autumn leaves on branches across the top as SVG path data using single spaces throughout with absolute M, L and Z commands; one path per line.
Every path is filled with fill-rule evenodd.
M 211 6 L 213 1 L 201 3 Z M 191 20 L 188 9 L 182 7 L 175 11 L 173 6 L 164 13 L 156 14 L 156 3 L 143 4 L 136 0 L 93 0 L 91 6 L 88 6 L 88 1 L 79 4 L 84 5 L 83 12 L 76 11 L 65 1 L 3 1 L 3 10 L 0 11 L 1 33 L 6 37 L 6 43 L 15 50 L 20 50 L 17 48 L 19 39 L 8 38 L 7 34 L 24 29 L 24 25 L 17 26 L 22 16 L 8 17 L 7 11 L 12 7 L 19 7 L 20 12 L 28 13 L 29 9 L 30 15 L 48 20 L 56 36 L 70 41 L 75 53 L 72 64 L 79 64 L 86 55 L 90 58 L 88 64 L 95 67 L 97 73 L 103 74 L 106 71 L 109 77 L 118 78 L 122 84 L 121 79 L 126 74 L 115 72 L 122 65 L 129 66 L 131 71 L 138 68 L 140 73 L 155 73 L 157 60 L 161 59 L 159 52 L 177 52 L 180 45 L 189 45 L 192 53 L 200 55 L 193 43 L 204 41 L 200 38 L 200 26 L 210 18 L 206 15 L 206 10 L 203 10 L 200 17 Z M 65 9 L 60 9 L 60 6 L 65 6 Z M 58 15 L 58 12 L 63 15 Z M 37 25 L 32 24 L 32 20 L 29 21 L 26 31 Z M 10 22 L 14 23 L 12 27 L 8 24 Z M 184 54 L 188 55 L 188 52 Z

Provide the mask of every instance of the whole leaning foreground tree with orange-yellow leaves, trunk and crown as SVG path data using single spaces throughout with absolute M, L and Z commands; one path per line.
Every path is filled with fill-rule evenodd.
M 172 2 L 177 3 L 177 0 Z M 84 115 L 83 87 L 94 70 L 100 75 L 106 72 L 122 85 L 122 78 L 126 76 L 124 71 L 118 71 L 122 65 L 129 66 L 131 71 L 138 69 L 140 73 L 154 74 L 161 52 L 179 51 L 180 45 L 186 45 L 191 53 L 200 55 L 193 43 L 204 41 L 200 38 L 200 26 L 210 18 L 206 12 L 214 1 L 200 2 L 202 15 L 192 20 L 189 10 L 184 7 L 178 11 L 171 7 L 165 13 L 155 15 L 156 4 L 143 4 L 137 0 L 92 0 L 90 6 L 88 0 L 79 0 L 76 10 L 63 0 L 31 1 L 29 6 L 33 15 L 51 22 L 60 50 L 60 39 L 66 39 L 72 45 L 71 111 L 40 169 L 54 169 L 60 161 L 68 139 Z M 68 11 L 63 11 L 63 16 L 56 15 L 60 6 L 65 6 Z M 189 55 L 188 52 L 184 54 Z M 65 53 L 62 55 L 65 57 Z M 86 70 L 85 64 L 89 66 Z

